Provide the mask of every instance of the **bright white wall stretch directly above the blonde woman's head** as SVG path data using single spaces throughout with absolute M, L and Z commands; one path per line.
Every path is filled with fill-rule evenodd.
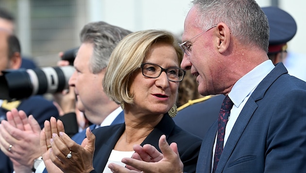
M 183 32 L 190 8 L 189 0 L 88 0 L 88 3 L 93 8 L 88 21 L 103 20 L 131 31 L 165 29 L 174 34 Z

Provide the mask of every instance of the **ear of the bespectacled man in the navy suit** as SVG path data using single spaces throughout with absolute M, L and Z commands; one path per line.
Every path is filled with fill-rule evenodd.
M 217 36 L 218 36 L 218 50 L 220 53 L 224 53 L 230 44 L 231 32 L 229 27 L 225 23 L 219 23 L 217 25 Z

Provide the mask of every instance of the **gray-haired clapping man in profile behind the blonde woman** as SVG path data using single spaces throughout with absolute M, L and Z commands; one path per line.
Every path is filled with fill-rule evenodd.
M 74 87 L 74 92 L 77 97 L 76 107 L 84 112 L 86 118 L 93 123 L 93 125 L 90 126 L 91 129 L 122 123 L 124 121 L 123 112 L 120 106 L 110 101 L 103 92 L 102 80 L 111 52 L 116 47 L 117 43 L 125 35 L 130 33 L 131 32 L 128 30 L 105 22 L 92 22 L 86 24 L 81 31 L 80 38 L 82 43 L 74 60 L 76 71 L 69 79 L 69 86 Z M 12 125 L 14 123 L 3 124 L 3 129 L 10 132 L 1 132 L 2 136 L 5 135 L 4 138 L 6 142 L 12 143 L 12 141 L 16 141 L 16 138 L 18 138 L 18 144 L 14 144 L 14 146 L 22 148 L 22 150 L 5 152 L 7 156 L 14 160 L 14 170 L 17 173 L 27 170 L 28 172 L 42 172 L 44 170 L 43 163 L 52 162 L 49 157 L 49 147 L 46 146 L 45 151 L 40 151 L 37 145 L 37 141 L 39 143 L 40 138 L 40 128 L 37 128 L 37 122 L 32 117 L 29 119 L 22 117 L 22 112 L 17 112 L 17 110 L 12 110 L 9 112 L 8 116 L 14 117 L 13 120 L 10 119 L 13 122 L 14 120 L 22 121 L 23 127 L 32 127 L 30 130 L 21 130 L 18 127 L 14 127 L 14 125 Z M 55 118 L 51 118 L 50 121 L 51 124 L 45 123 L 45 126 L 52 126 L 58 123 Z M 59 133 L 59 131 L 50 132 L 50 136 L 47 138 L 51 138 L 52 133 Z M 22 138 L 22 142 L 20 142 L 20 138 Z M 80 144 L 84 138 L 85 132 L 81 132 L 76 134 L 72 139 Z M 50 140 L 47 142 L 50 145 Z M 41 152 L 43 155 L 41 155 Z M 38 165 L 39 170 L 36 170 Z M 54 170 L 52 169 L 52 171 L 56 172 L 56 169 L 58 168 L 54 165 Z

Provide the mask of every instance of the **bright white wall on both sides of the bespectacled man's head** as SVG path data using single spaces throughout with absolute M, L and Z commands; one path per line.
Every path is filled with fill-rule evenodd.
M 256 0 L 261 7 L 271 5 L 270 0 Z M 131 31 L 165 29 L 181 35 L 191 0 L 88 0 L 88 21 L 103 20 Z M 306 34 L 304 0 L 279 0 L 279 7 L 297 22 L 298 30 L 289 42 L 289 51 L 304 53 Z

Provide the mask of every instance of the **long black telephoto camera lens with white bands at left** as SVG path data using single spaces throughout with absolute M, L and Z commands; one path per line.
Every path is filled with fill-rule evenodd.
M 68 88 L 74 70 L 72 66 L 4 70 L 0 76 L 0 99 L 11 101 L 60 92 Z

